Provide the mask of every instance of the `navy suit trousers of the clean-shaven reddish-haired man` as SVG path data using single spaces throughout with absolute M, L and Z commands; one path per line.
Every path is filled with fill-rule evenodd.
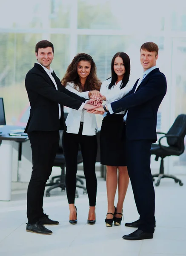
M 151 140 L 127 140 L 127 168 L 132 184 L 137 211 L 140 215 L 139 229 L 154 233 L 155 189 L 150 169 Z

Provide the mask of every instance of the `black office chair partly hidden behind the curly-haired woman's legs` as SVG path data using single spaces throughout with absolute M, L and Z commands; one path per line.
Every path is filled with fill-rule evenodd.
M 63 154 L 63 147 L 62 147 L 62 136 L 63 136 L 63 131 L 60 131 L 60 143 L 59 143 L 59 149 L 57 151 L 55 160 L 54 160 L 54 165 L 53 166 L 57 166 L 61 168 L 61 175 L 58 176 L 54 176 L 51 178 L 51 180 L 49 181 L 49 183 L 46 183 L 46 186 L 50 186 L 49 189 L 46 190 L 46 196 L 49 197 L 50 196 L 50 191 L 52 189 L 58 188 L 60 187 L 62 191 L 65 191 L 65 157 Z M 77 163 L 82 163 L 83 162 L 83 158 L 81 155 L 81 151 L 78 151 L 77 154 Z M 83 189 L 83 194 L 87 194 L 86 192 L 86 187 L 83 186 L 84 182 L 83 180 L 80 179 L 80 177 L 76 177 L 76 181 L 80 182 L 81 185 L 76 184 L 76 187 Z M 76 194 L 75 197 L 78 198 L 78 192 L 76 189 Z

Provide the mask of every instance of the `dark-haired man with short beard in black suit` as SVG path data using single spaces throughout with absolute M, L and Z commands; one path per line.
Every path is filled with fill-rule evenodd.
M 26 74 L 25 86 L 31 106 L 25 132 L 28 133 L 32 150 L 32 173 L 27 193 L 26 231 L 52 234 L 44 225 L 57 225 L 43 212 L 43 195 L 46 181 L 59 146 L 59 130 L 65 130 L 63 105 L 80 109 L 92 109 L 86 99 L 62 86 L 50 64 L 54 58 L 54 46 L 43 40 L 36 44 L 37 63 Z

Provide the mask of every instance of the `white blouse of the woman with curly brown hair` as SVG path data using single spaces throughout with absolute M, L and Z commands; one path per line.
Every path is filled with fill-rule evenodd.
M 69 82 L 66 84 L 66 89 L 71 91 L 72 93 L 76 93 L 80 97 L 89 100 L 89 91 L 80 92 L 79 87 L 74 86 L 73 82 Z M 80 122 L 83 122 L 83 131 L 82 135 L 95 135 L 98 131 L 96 116 L 95 114 L 88 113 L 86 110 L 76 110 L 70 108 L 69 114 L 66 118 L 66 126 L 68 133 L 78 134 L 80 128 Z

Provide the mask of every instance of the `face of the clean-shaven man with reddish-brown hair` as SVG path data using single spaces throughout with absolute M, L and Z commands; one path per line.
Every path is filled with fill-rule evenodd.
M 158 55 L 156 52 L 148 52 L 143 49 L 140 50 L 140 61 L 144 71 L 154 67 L 156 65 L 157 58 Z

